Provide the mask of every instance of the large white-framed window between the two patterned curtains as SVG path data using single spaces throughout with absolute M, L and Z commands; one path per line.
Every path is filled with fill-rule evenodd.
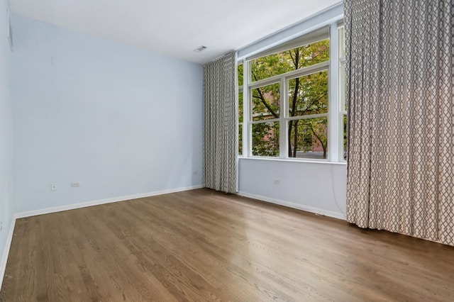
M 344 158 L 341 140 L 346 141 L 346 133 L 340 129 L 346 129 L 345 84 L 343 90 L 330 89 L 345 82 L 341 26 L 332 38 L 328 28 L 321 28 L 240 62 L 240 155 Z M 331 69 L 336 70 L 334 77 Z

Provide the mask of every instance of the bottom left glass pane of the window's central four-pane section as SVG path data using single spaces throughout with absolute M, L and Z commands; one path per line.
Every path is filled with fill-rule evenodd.
M 252 125 L 253 155 L 279 156 L 279 122 Z

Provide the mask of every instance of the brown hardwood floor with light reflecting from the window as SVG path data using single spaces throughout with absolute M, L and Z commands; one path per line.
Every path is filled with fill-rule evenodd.
M 454 247 L 209 189 L 16 221 L 1 301 L 454 301 Z

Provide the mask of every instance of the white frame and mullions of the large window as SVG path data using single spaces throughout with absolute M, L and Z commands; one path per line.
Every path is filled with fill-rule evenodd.
M 242 60 L 243 63 L 243 86 L 238 91 L 243 91 L 243 155 L 240 157 L 253 157 L 263 159 L 297 160 L 307 162 L 345 162 L 343 160 L 343 116 L 345 111 L 345 84 L 341 85 L 341 67 L 345 66 L 345 57 L 341 58 L 342 41 L 339 39 L 338 21 L 329 24 L 330 60 L 316 65 L 304 67 L 285 74 L 279 74 L 260 81 L 250 80 L 250 60 Z M 314 41 L 311 41 L 314 43 Z M 297 77 L 304 77 L 320 71 L 328 71 L 328 113 L 308 116 L 288 116 L 288 81 Z M 279 83 L 281 104 L 279 118 L 270 120 L 252 121 L 252 90 L 267 84 Z M 284 110 L 282 110 L 284 108 Z M 311 159 L 300 157 L 288 157 L 287 127 L 290 120 L 316 118 L 326 116 L 328 118 L 328 152 L 326 159 Z M 261 157 L 252 154 L 252 125 L 256 123 L 268 123 L 279 121 L 279 157 Z

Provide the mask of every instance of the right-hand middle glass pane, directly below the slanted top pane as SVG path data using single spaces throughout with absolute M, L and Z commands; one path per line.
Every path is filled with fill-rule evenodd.
M 289 116 L 328 113 L 328 71 L 289 80 Z

